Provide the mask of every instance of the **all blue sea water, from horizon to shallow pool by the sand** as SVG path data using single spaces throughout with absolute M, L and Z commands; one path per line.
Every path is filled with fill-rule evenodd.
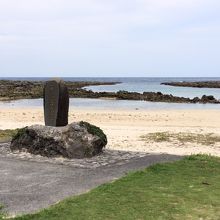
M 5 78 L 9 80 L 42 80 L 50 78 Z M 120 82 L 115 85 L 88 86 L 87 90 L 95 92 L 117 92 L 125 90 L 129 92 L 162 92 L 180 97 L 202 97 L 203 95 L 213 95 L 220 99 L 220 89 L 215 88 L 189 88 L 161 85 L 162 82 L 195 82 L 195 81 L 220 81 L 220 77 L 63 77 L 65 81 L 98 81 L 98 82 Z M 27 108 L 42 107 L 42 99 L 22 99 L 16 101 L 0 102 L 1 108 Z M 70 108 L 94 108 L 94 109 L 135 109 L 135 110 L 154 110 L 154 109 L 220 109 L 220 104 L 187 104 L 187 103 L 163 103 L 146 102 L 133 100 L 108 100 L 108 99 L 82 99 L 71 98 Z

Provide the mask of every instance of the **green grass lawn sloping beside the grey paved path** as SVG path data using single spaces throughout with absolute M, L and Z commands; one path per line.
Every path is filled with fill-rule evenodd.
M 220 158 L 153 165 L 16 219 L 220 219 Z

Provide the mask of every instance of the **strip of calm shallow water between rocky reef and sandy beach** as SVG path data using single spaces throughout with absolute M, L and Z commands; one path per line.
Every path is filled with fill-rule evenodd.
M 0 101 L 0 108 L 42 108 L 43 99 L 21 99 L 11 101 Z M 118 100 L 106 98 L 70 98 L 70 109 L 86 109 L 93 110 L 220 110 L 220 105 L 207 103 L 165 103 L 165 102 L 148 102 L 143 100 Z

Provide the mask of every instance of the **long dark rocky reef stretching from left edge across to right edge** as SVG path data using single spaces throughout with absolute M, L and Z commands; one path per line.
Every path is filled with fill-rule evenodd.
M 161 92 L 93 92 L 82 87 L 90 85 L 114 85 L 117 82 L 65 82 L 70 98 L 113 98 L 118 100 L 142 100 L 149 102 L 168 102 L 168 103 L 212 103 L 220 104 L 220 100 L 213 96 L 204 95 L 202 98 L 193 99 L 177 97 Z M 6 87 L 6 89 L 5 89 Z M 21 98 L 42 98 L 43 82 L 29 81 L 0 81 L 0 100 L 21 99 Z

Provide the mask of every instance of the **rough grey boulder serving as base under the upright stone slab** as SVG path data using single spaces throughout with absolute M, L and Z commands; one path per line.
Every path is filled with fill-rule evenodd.
M 46 157 L 85 158 L 101 153 L 106 144 L 100 128 L 81 121 L 64 127 L 32 125 L 20 129 L 10 148 Z

